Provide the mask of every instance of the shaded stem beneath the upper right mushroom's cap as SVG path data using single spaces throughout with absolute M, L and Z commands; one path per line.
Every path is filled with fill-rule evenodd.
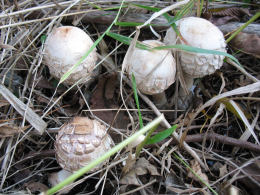
M 183 72 L 183 78 L 185 82 L 185 86 L 181 86 L 179 90 L 179 96 L 178 96 L 178 108 L 187 110 L 191 103 L 191 88 L 193 86 L 193 77 Z M 186 90 L 188 90 L 188 94 Z

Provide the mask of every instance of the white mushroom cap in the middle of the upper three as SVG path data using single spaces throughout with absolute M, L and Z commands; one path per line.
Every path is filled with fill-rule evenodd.
M 156 40 L 142 43 L 152 47 L 163 46 Z M 128 62 L 128 74 L 135 75 L 138 89 L 149 95 L 162 93 L 175 81 L 176 63 L 169 50 L 147 51 L 135 48 Z

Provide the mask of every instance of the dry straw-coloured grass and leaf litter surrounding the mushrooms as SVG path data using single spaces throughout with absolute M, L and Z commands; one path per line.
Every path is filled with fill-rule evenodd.
M 116 143 L 139 129 L 131 82 L 121 74 L 128 46 L 105 36 L 98 46 L 102 60 L 100 74 L 88 85 L 57 87 L 58 81 L 50 76 L 43 61 L 41 37 L 48 35 L 53 27 L 75 25 L 96 40 L 112 22 L 111 18 L 116 12 L 107 11 L 110 15 L 104 15 L 105 11 L 101 9 L 116 8 L 120 2 L 1 1 L 2 193 L 37 193 L 50 187 L 48 175 L 60 169 L 55 159 L 55 134 L 73 116 L 89 116 L 101 121 Z M 170 6 L 172 1 L 127 2 L 164 8 Z M 214 2 L 208 6 L 232 4 Z M 257 5 L 252 2 L 249 9 L 257 9 Z M 124 8 L 120 19 L 145 22 L 151 15 L 144 10 L 128 7 Z M 163 24 L 155 30 L 164 36 L 167 29 L 165 19 L 160 16 L 153 22 Z M 113 26 L 111 31 L 129 36 L 134 28 Z M 138 39 L 155 39 L 155 36 L 148 28 L 142 28 Z M 201 177 L 205 174 L 207 182 L 217 193 L 223 194 L 230 186 L 236 186 L 243 194 L 257 194 L 250 190 L 260 189 L 259 58 L 235 53 L 232 48 L 228 52 L 240 61 L 244 69 L 227 61 L 217 73 L 202 78 L 195 90 L 194 105 L 187 111 L 178 110 L 174 105 L 159 110 L 150 97 L 139 94 L 145 124 L 161 113 L 165 114 L 166 119 L 158 131 L 178 124 L 172 137 L 142 149 L 139 160 L 147 160 L 143 167 L 136 163 L 128 167 L 131 174 L 123 173 L 125 163 L 127 166 L 131 164 L 131 154 L 128 150 L 119 151 L 103 169 L 81 178 L 77 181 L 78 185 L 74 183 L 76 187 L 71 193 L 209 194 L 204 184 L 189 176 L 187 167 L 176 158 L 177 154 Z M 106 81 L 102 83 L 103 79 Z M 176 86 L 179 83 L 177 79 L 167 90 L 169 102 L 176 102 L 174 93 L 178 91 Z M 183 134 L 187 134 L 189 145 L 184 142 L 179 146 L 176 140 L 184 138 Z M 197 136 L 196 139 L 192 135 Z M 223 141 L 221 136 L 227 140 Z M 193 166 L 193 159 L 199 164 Z M 143 173 L 140 173 L 141 170 Z

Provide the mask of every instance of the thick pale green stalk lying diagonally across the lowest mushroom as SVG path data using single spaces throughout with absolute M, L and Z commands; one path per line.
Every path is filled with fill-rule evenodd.
M 115 154 L 116 152 L 118 152 L 119 150 L 124 148 L 126 145 L 128 145 L 129 143 L 131 143 L 132 141 L 137 139 L 139 136 L 143 135 L 144 133 L 149 131 L 151 128 L 157 126 L 163 119 L 164 119 L 163 115 L 157 117 L 152 122 L 148 123 L 145 127 L 143 127 L 142 129 L 140 129 L 139 131 L 134 133 L 131 137 L 129 137 L 129 138 L 125 139 L 124 141 L 122 141 L 121 143 L 117 144 L 115 147 L 113 147 L 111 150 L 109 150 L 107 153 L 105 153 L 101 157 L 99 157 L 96 160 L 92 161 L 87 166 L 79 169 L 73 175 L 69 176 L 67 179 L 65 179 L 64 181 L 62 181 L 58 185 L 56 185 L 53 188 L 49 189 L 47 192 L 45 192 L 45 194 L 47 194 L 47 195 L 54 194 L 58 190 L 62 189 L 64 186 L 72 183 L 74 180 L 78 179 L 79 177 L 84 175 L 86 172 L 88 172 L 89 170 L 91 170 L 92 168 L 94 168 L 95 166 L 97 166 L 98 164 L 100 164 L 101 162 L 105 161 L 110 156 L 112 156 L 113 154 Z

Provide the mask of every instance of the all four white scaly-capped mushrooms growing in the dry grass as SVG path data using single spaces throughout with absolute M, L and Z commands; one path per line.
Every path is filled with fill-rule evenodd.
M 151 47 L 183 44 L 208 50 L 226 51 L 222 32 L 205 19 L 183 18 L 177 22 L 177 27 L 179 36 L 170 28 L 164 42 L 145 40 L 142 43 Z M 44 59 L 50 74 L 60 79 L 92 45 L 91 38 L 77 27 L 55 28 L 45 43 Z M 173 49 L 148 51 L 135 48 L 127 64 L 127 73 L 130 78 L 132 73 L 134 74 L 139 91 L 152 95 L 158 107 L 167 103 L 164 91 L 175 81 L 176 62 L 173 54 Z M 180 51 L 179 61 L 186 88 L 191 89 L 194 78 L 214 73 L 222 66 L 223 59 L 224 56 L 220 55 Z M 85 83 L 92 76 L 96 62 L 97 52 L 94 49 L 64 83 L 72 85 L 80 79 L 80 83 Z M 181 88 L 179 98 L 186 96 L 187 90 Z M 55 185 L 64 180 L 64 177 L 103 155 L 112 145 L 113 140 L 107 134 L 105 126 L 96 120 L 76 117 L 63 125 L 55 143 L 57 161 L 63 170 L 52 175 L 51 184 Z

